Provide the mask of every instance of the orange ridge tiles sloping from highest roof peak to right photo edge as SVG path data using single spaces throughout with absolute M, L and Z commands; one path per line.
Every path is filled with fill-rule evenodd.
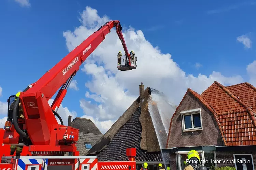
M 247 106 L 242 100 L 238 99 L 235 95 L 233 95 L 226 87 L 224 87 L 221 83 L 214 81 L 223 91 L 225 91 L 231 98 L 236 100 L 239 104 L 241 104 L 246 110 L 248 111 L 248 114 L 252 120 L 253 125 L 256 128 L 256 113 L 253 111 L 253 109 L 249 106 Z

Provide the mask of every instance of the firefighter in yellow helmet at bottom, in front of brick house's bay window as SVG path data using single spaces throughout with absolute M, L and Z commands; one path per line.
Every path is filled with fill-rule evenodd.
M 197 151 L 191 150 L 187 154 L 188 166 L 184 170 L 207 170 L 205 166 L 199 164 L 200 156 Z

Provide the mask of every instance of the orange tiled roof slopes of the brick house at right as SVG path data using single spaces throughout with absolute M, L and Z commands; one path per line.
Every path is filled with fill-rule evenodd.
M 216 112 L 227 145 L 256 145 L 255 91 L 248 83 L 224 87 L 215 81 L 201 94 Z

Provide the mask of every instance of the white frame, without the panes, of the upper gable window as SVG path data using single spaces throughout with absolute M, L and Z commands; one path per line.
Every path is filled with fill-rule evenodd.
M 182 118 L 181 118 L 182 132 L 203 130 L 201 108 L 191 109 L 191 110 L 188 110 L 188 111 L 181 111 L 180 113 L 181 113 L 181 116 L 182 116 Z M 200 114 L 201 127 L 194 128 L 193 117 L 192 117 L 192 115 L 194 115 L 194 114 Z M 186 116 L 186 115 L 191 115 L 192 128 L 187 128 L 187 129 L 185 128 L 184 116 Z

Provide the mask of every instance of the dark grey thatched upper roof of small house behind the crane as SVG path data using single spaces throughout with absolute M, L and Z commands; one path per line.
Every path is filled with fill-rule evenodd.
M 79 132 L 103 135 L 90 119 L 76 117 L 71 122 L 71 127 L 79 129 Z

